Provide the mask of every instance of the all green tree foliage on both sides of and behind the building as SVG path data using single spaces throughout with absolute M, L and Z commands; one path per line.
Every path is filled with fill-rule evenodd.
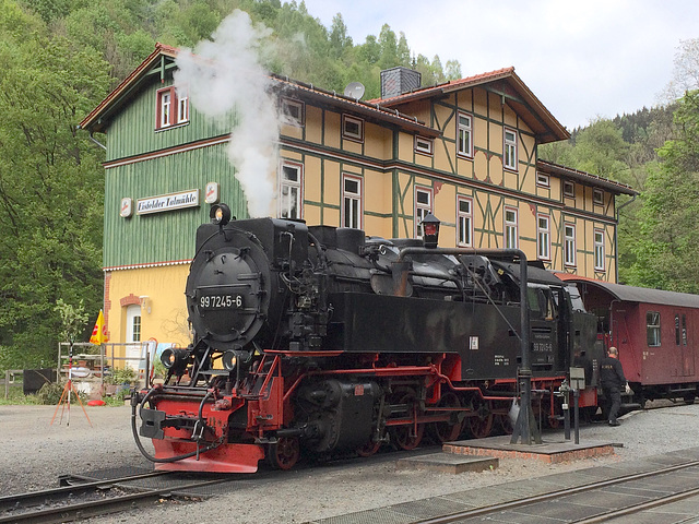
M 388 24 L 355 43 L 342 14 L 327 28 L 303 1 L 0 0 L 0 370 L 52 366 L 68 313 L 102 306 L 104 153 L 76 123 L 155 41 L 192 47 L 235 9 L 272 29 L 272 72 L 327 90 L 358 81 L 366 98 L 379 97 L 380 70 L 395 66 L 419 71 L 423 85 L 461 76 L 458 61 L 428 59 Z M 689 69 L 692 49 L 680 57 Z M 642 191 L 620 216 L 619 273 L 629 283 L 699 290 L 698 96 L 596 120 L 540 148 Z M 71 336 L 86 340 L 90 325 L 78 327 Z

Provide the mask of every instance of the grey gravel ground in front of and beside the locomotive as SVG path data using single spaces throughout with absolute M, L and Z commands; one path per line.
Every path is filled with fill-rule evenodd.
M 152 469 L 133 442 L 129 406 L 87 407 L 92 427 L 79 405 L 71 407 L 70 425 L 66 412 L 61 420 L 61 409 L 51 425 L 55 409 L 0 406 L 3 496 L 56 487 L 63 474 L 122 467 Z M 461 475 L 399 469 L 394 460 L 368 463 L 357 458 L 342 465 L 286 472 L 259 483 L 241 483 L 230 492 L 203 502 L 164 502 L 88 522 L 300 523 L 699 445 L 699 404 L 633 412 L 621 420 L 616 428 L 604 424 L 581 428 L 581 443 L 594 440 L 623 444 L 609 456 L 561 464 L 502 458 L 494 471 Z M 559 437 L 545 434 L 545 439 L 553 438 Z

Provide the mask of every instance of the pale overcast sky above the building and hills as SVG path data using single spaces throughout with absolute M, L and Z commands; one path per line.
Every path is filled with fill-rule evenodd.
M 513 66 L 569 130 L 657 105 L 679 40 L 699 38 L 697 0 L 305 1 L 328 28 L 342 13 L 354 44 L 387 23 L 463 76 Z

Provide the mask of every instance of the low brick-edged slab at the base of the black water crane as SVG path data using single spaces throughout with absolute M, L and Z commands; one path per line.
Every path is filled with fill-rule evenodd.
M 543 439 L 541 444 L 511 444 L 510 436 L 487 439 L 460 440 L 442 445 L 445 453 L 471 456 L 493 456 L 496 458 L 534 458 L 549 464 L 578 461 L 594 456 L 613 455 L 614 448 L 621 444 L 587 441 L 576 444 L 573 440 Z

